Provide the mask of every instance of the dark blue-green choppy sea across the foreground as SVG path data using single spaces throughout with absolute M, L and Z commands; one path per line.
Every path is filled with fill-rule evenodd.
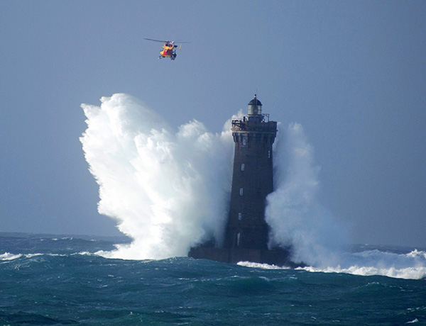
M 0 325 L 426 325 L 424 275 L 104 254 L 126 241 L 0 233 Z

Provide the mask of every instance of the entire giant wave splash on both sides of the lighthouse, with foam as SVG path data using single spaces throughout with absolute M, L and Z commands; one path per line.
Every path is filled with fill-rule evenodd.
M 190 247 L 206 240 L 220 245 L 231 191 L 230 120 L 222 133 L 210 133 L 197 120 L 174 131 L 133 96 L 114 94 L 101 102 L 82 104 L 87 130 L 80 140 L 99 184 L 99 213 L 114 218 L 133 240 L 104 255 L 162 259 L 186 256 Z M 266 207 L 271 247 L 292 246 L 293 260 L 315 266 L 307 267 L 312 271 L 426 275 L 424 252 L 344 252 L 344 227 L 317 201 L 317 172 L 302 126 L 278 125 L 275 191 Z

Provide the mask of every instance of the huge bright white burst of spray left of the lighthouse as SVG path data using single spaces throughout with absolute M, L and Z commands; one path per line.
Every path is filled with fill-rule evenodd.
M 209 133 L 197 120 L 173 130 L 127 94 L 82 104 L 87 130 L 80 138 L 99 184 L 99 213 L 117 220 L 133 239 L 110 257 L 186 256 L 190 247 L 223 241 L 230 192 L 230 123 Z

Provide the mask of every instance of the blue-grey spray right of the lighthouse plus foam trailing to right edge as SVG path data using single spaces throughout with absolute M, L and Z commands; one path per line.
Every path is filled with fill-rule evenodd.
M 269 246 L 291 246 L 294 262 L 307 271 L 384 275 L 401 279 L 426 276 L 426 254 L 349 250 L 349 232 L 317 200 L 320 190 L 313 147 L 302 125 L 278 125 L 274 148 L 274 189 L 267 199 Z

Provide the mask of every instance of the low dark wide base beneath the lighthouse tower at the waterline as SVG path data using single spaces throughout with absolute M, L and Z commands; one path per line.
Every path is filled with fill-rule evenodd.
M 236 264 L 238 262 L 254 262 L 275 266 L 300 266 L 290 260 L 289 249 L 243 249 L 243 248 L 217 248 L 196 247 L 191 248 L 189 257 L 195 259 L 210 259 L 216 262 Z

